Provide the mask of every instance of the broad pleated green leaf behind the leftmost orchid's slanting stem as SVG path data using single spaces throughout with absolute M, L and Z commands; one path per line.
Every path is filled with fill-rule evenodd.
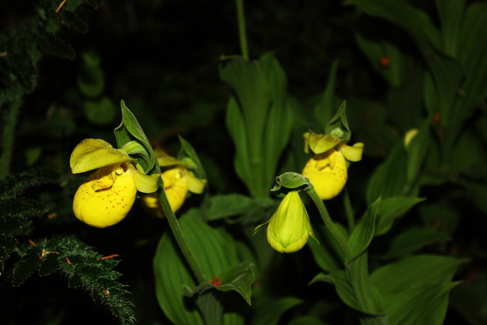
M 185 214 L 179 219 L 179 223 L 207 281 L 215 280 L 215 276 L 219 279 L 220 275 L 225 279 L 225 269 L 240 265 L 235 245 L 225 240 L 217 230 L 206 225 L 200 218 Z M 154 275 L 159 305 L 171 322 L 176 325 L 204 324 L 194 301 L 184 295 L 184 292 L 191 294 L 198 284 L 168 231 L 162 236 L 154 256 Z M 184 292 L 183 287 L 186 287 Z M 206 303 L 212 302 L 211 297 L 206 298 Z M 234 303 L 244 301 L 239 299 L 240 302 L 236 300 Z M 204 304 L 205 301 L 199 303 Z M 219 300 L 218 304 L 225 305 L 224 303 L 225 301 Z M 225 310 L 223 319 L 225 324 L 243 324 L 244 321 L 240 313 Z

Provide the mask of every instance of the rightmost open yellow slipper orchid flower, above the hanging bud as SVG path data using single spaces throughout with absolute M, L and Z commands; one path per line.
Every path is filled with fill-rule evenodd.
M 303 136 L 304 151 L 308 152 L 309 147 L 315 155 L 306 163 L 301 174 L 309 178 L 322 200 L 332 199 L 347 182 L 347 160 L 361 160 L 364 145 L 359 142 L 353 147 L 347 146 L 343 139 L 312 131 Z

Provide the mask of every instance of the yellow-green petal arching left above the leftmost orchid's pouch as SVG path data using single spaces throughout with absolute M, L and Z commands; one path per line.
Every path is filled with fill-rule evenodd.
M 71 153 L 69 164 L 75 174 L 131 161 L 135 160 L 127 153 L 110 148 L 96 139 L 84 139 Z

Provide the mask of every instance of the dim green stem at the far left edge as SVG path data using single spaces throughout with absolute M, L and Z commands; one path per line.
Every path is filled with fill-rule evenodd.
M 15 125 L 17 124 L 17 116 L 19 115 L 20 101 L 23 94 L 23 88 L 19 85 L 17 95 L 8 105 L 8 111 L 5 112 L 5 125 L 1 137 L 0 179 L 3 179 L 8 174 L 12 156 L 12 144 L 14 143 Z

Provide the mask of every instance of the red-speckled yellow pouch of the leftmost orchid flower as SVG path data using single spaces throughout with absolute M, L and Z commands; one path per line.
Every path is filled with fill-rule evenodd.
M 119 223 L 132 208 L 137 189 L 127 167 L 98 169 L 81 184 L 73 200 L 76 218 L 97 228 Z

